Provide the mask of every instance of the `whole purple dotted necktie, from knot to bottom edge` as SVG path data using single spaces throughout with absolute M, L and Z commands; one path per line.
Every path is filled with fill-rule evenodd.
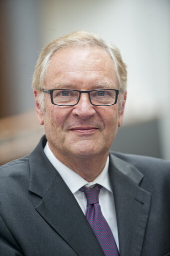
M 95 185 L 88 189 L 83 186 L 79 190 L 84 192 L 87 199 L 85 216 L 90 224 L 105 256 L 119 256 L 119 252 L 112 235 L 111 229 L 102 215 L 98 203 L 98 194 L 102 186 Z

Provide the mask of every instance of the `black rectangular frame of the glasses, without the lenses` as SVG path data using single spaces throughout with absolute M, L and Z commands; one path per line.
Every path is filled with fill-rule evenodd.
M 71 105 L 60 105 L 60 104 L 54 103 L 54 102 L 53 102 L 53 98 L 52 98 L 52 93 L 53 93 L 53 91 L 59 91 L 59 90 L 76 91 L 76 92 L 78 92 L 78 93 L 79 93 L 79 97 L 78 97 L 78 99 L 77 99 L 77 102 L 76 102 L 75 104 L 71 104 Z M 91 102 L 91 99 L 90 99 L 90 96 L 89 96 L 90 92 L 93 92 L 93 91 L 102 91 L 102 90 L 104 90 L 104 91 L 105 91 L 105 90 L 115 91 L 115 101 L 114 101 L 114 103 L 108 104 L 108 105 L 97 105 L 97 104 L 93 104 L 93 103 Z M 101 106 L 101 107 L 102 107 L 102 106 L 103 106 L 103 107 L 104 107 L 104 106 L 111 106 L 111 105 L 114 105 L 114 104 L 117 103 L 117 98 L 118 98 L 118 94 L 119 94 L 119 90 L 118 90 L 118 89 L 95 89 L 95 90 L 89 90 L 89 91 L 79 91 L 79 90 L 73 90 L 73 89 L 42 89 L 42 92 L 50 94 L 51 103 L 52 103 L 53 105 L 63 106 L 63 107 L 75 106 L 75 105 L 77 105 L 78 102 L 79 102 L 81 93 L 87 93 L 87 94 L 88 94 L 88 97 L 89 97 L 90 103 L 91 103 L 92 105 L 94 105 L 94 106 Z

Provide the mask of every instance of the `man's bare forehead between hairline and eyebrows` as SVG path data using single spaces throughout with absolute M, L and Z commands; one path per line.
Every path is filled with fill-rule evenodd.
M 115 67 L 110 55 L 97 46 L 63 48 L 55 52 L 49 62 L 45 84 L 70 83 L 70 80 L 117 83 Z M 106 80 L 106 81 L 100 81 Z

